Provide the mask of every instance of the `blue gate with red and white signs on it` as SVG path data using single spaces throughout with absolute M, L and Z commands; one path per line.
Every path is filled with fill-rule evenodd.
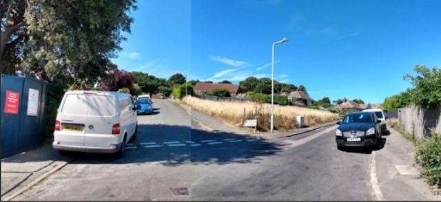
M 44 137 L 46 82 L 1 75 L 1 158 L 39 146 Z

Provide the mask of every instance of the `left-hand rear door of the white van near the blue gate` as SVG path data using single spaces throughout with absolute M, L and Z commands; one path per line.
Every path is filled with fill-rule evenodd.
M 88 114 L 88 98 L 83 93 L 66 94 L 57 120 L 61 122 L 57 141 L 70 146 L 84 146 L 85 122 Z

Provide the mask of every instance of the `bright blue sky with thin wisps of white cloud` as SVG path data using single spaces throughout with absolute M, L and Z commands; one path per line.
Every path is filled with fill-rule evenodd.
M 271 76 L 312 98 L 382 102 L 413 66 L 441 66 L 441 1 L 147 1 L 114 62 L 167 78 Z

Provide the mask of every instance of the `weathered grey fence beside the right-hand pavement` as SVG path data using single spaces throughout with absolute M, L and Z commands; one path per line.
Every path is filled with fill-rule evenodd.
M 408 106 L 400 109 L 398 120 L 407 133 L 422 138 L 431 132 L 441 133 L 441 107 L 422 109 L 418 106 Z

